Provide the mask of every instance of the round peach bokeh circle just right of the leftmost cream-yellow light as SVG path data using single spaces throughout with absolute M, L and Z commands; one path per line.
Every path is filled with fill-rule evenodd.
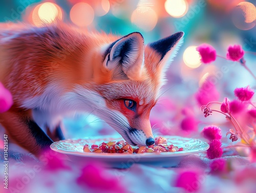
M 77 3 L 70 11 L 70 19 L 77 26 L 89 26 L 94 19 L 94 10 L 87 3 Z

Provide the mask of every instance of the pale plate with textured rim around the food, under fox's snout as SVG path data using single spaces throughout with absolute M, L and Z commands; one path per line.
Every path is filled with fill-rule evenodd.
M 120 153 L 86 153 L 83 152 L 83 146 L 85 144 L 95 144 L 101 143 L 103 141 L 118 141 L 123 140 L 122 137 L 113 137 L 113 136 L 96 136 L 88 137 L 84 139 L 65 139 L 61 141 L 53 142 L 50 145 L 50 148 L 53 151 L 68 154 L 76 155 L 82 157 L 93 157 L 93 158 L 104 158 L 104 159 L 113 159 L 113 158 L 125 158 L 133 156 L 141 156 L 146 158 L 156 158 L 156 157 L 177 157 L 177 156 L 187 156 L 190 154 L 197 154 L 205 152 L 209 148 L 209 144 L 200 139 L 186 138 L 180 136 L 164 136 L 169 144 L 174 144 L 178 147 L 183 147 L 181 152 L 162 152 L 162 153 L 144 153 L 144 154 L 120 154 Z

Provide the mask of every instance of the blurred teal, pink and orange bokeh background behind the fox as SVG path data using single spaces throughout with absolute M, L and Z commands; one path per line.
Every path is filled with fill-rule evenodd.
M 25 22 L 35 26 L 61 20 L 91 31 L 126 35 L 142 33 L 145 44 L 185 32 L 184 43 L 167 72 L 163 95 L 151 113 L 157 135 L 198 136 L 205 125 L 215 123 L 225 130 L 225 117 L 205 119 L 204 96 L 211 100 L 233 99 L 233 90 L 250 85 L 252 76 L 238 63 L 221 57 L 209 65 L 200 62 L 196 47 L 206 42 L 225 57 L 229 45 L 239 44 L 246 52 L 247 66 L 256 72 L 255 1 L 242 0 L 10 0 L 1 1 L 0 22 Z M 253 54 L 254 52 L 254 54 Z M 202 89 L 206 82 L 208 89 Z M 202 99 L 203 97 L 203 99 Z M 117 134 L 92 115 L 63 121 L 67 138 Z

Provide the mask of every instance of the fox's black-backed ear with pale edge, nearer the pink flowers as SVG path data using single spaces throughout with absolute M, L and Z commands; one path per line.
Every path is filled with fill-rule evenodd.
M 168 68 L 170 62 L 173 61 L 174 56 L 176 56 L 177 51 L 183 42 L 183 35 L 184 32 L 177 32 L 171 36 L 148 44 L 148 46 L 160 55 L 160 60 L 156 67 L 158 70 L 165 71 Z

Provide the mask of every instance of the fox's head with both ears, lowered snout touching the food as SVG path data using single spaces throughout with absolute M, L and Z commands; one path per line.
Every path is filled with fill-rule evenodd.
M 144 45 L 142 35 L 134 32 L 105 46 L 94 57 L 94 83 L 87 85 L 90 94 L 83 95 L 90 96 L 87 103 L 92 104 L 92 113 L 131 145 L 155 143 L 150 112 L 182 37 L 183 32 L 178 32 Z

